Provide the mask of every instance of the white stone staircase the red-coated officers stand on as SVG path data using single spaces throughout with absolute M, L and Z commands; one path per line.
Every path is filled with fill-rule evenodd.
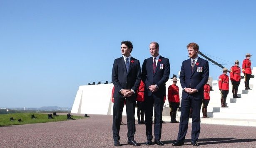
M 256 68 L 253 70 L 256 72 Z M 241 74 L 244 75 L 244 74 Z M 226 125 L 240 125 L 240 126 L 256 126 L 256 79 L 250 79 L 250 87 L 252 90 L 245 90 L 244 79 L 241 79 L 241 83 L 238 89 L 238 96 L 241 98 L 233 98 L 232 85 L 229 82 L 229 95 L 227 96 L 226 105 L 227 108 L 221 107 L 221 94 L 219 91 L 218 80 L 213 80 L 214 91 L 210 92 L 210 102 L 207 109 L 207 115 L 210 118 L 201 118 L 201 123 L 205 124 L 226 124 Z M 170 121 L 169 108 L 163 110 L 163 120 Z M 180 112 L 177 112 L 177 118 L 179 119 Z M 201 113 L 202 117 L 202 113 Z M 189 119 L 191 122 L 191 119 Z

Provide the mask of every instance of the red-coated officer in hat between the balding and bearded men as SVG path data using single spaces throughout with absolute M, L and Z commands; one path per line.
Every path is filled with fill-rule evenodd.
M 172 85 L 168 87 L 168 100 L 170 107 L 171 123 L 179 123 L 176 120 L 177 109 L 179 108 L 179 87 L 176 85 L 177 78 L 172 78 Z

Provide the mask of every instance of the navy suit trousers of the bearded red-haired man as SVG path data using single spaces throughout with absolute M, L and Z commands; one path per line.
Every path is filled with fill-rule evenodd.
M 200 133 L 200 110 L 202 99 L 195 99 L 195 97 L 188 95 L 187 98 L 181 99 L 181 117 L 179 122 L 178 141 L 184 142 L 186 132 L 189 124 L 189 110 L 192 108 L 192 131 L 191 141 L 197 141 Z

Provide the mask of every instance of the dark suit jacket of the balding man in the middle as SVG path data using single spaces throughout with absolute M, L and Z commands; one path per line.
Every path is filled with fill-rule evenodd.
M 163 67 L 160 64 L 163 64 Z M 170 75 L 170 63 L 168 58 L 159 57 L 157 62 L 156 72 L 153 73 L 153 58 L 147 58 L 142 64 L 142 81 L 145 84 L 144 92 L 146 96 L 151 96 L 152 92 L 149 91 L 150 85 L 157 85 L 158 90 L 154 95 L 159 97 L 166 95 L 165 82 L 168 81 Z

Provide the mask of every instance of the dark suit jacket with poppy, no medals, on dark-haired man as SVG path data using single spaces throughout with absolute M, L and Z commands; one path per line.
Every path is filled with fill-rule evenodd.
M 139 60 L 131 57 L 128 73 L 123 56 L 114 60 L 112 69 L 112 82 L 114 84 L 113 97 L 123 98 L 123 95 L 120 93 L 120 90 L 122 89 L 134 90 L 135 94 L 132 95 L 132 97 L 135 97 L 140 80 L 141 71 Z

